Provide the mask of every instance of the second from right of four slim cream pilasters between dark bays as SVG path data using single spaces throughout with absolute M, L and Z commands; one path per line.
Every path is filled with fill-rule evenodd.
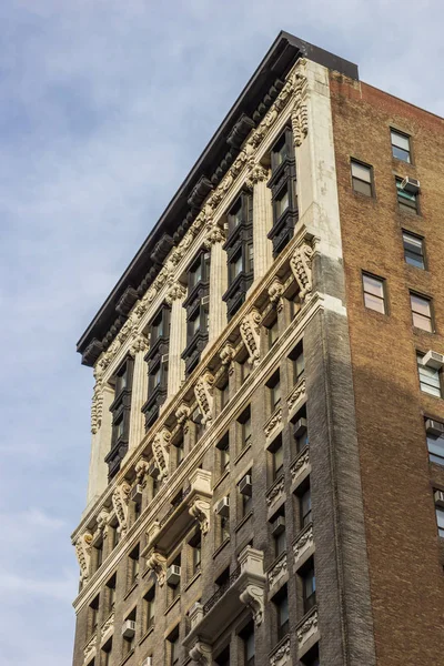
M 224 241 L 222 229 L 216 225 L 209 229 L 205 239 L 205 248 L 211 251 L 209 343 L 213 342 L 226 326 L 226 304 L 222 301 L 228 289 L 226 254 L 222 248 Z

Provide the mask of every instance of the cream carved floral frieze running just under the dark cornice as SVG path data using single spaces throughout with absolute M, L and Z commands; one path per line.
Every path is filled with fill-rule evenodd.
M 94 372 L 98 380 L 103 376 L 104 371 L 119 353 L 122 345 L 125 344 L 128 339 L 135 339 L 140 333 L 142 333 L 142 317 L 145 315 L 151 303 L 159 295 L 161 290 L 174 282 L 176 268 L 182 259 L 186 255 L 193 243 L 193 240 L 201 232 L 201 230 L 205 226 L 209 229 L 206 242 L 210 244 L 212 242 L 222 242 L 220 239 L 223 232 L 214 224 L 213 215 L 214 211 L 221 204 L 223 204 L 226 193 L 234 184 L 239 174 L 245 168 L 249 170 L 246 175 L 246 184 L 250 184 L 250 186 L 262 181 L 264 178 L 268 178 L 266 169 L 264 169 L 256 161 L 255 155 L 259 147 L 265 140 L 282 111 L 287 107 L 293 98 L 294 107 L 292 109 L 291 117 L 296 145 L 300 145 L 304 137 L 306 137 L 309 125 L 306 111 L 307 80 L 305 77 L 305 64 L 306 61 L 304 59 L 300 59 L 294 68 L 289 72 L 284 87 L 280 91 L 273 104 L 270 107 L 266 115 L 259 127 L 252 130 L 238 158 L 234 160 L 219 186 L 209 194 L 203 204 L 202 211 L 196 215 L 195 220 L 180 243 L 170 251 L 164 261 L 163 268 L 150 285 L 147 293 L 133 305 L 128 320 L 118 332 L 115 339 L 108 350 L 100 355 L 95 364 Z M 94 407 L 94 410 L 97 410 L 97 407 Z M 98 417 L 94 415 L 94 421 Z

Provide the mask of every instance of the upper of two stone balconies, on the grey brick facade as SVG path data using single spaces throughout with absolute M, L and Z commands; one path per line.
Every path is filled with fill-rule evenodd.
M 200 523 L 202 534 L 206 534 L 212 496 L 211 472 L 195 470 L 190 476 L 190 486 L 183 491 L 180 500 L 147 531 L 148 543 L 142 556 L 153 548 L 163 553 L 171 551 L 195 519 Z

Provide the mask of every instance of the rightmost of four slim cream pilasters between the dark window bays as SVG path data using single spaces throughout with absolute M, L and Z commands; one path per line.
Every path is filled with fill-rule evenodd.
M 273 225 L 271 190 L 266 186 L 269 178 L 269 170 L 262 164 L 255 164 L 246 181 L 246 184 L 253 191 L 253 284 L 256 284 L 263 278 L 273 263 L 273 245 L 268 239 L 268 233 Z

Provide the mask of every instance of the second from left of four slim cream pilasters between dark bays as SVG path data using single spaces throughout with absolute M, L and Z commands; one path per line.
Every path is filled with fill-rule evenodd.
M 178 393 L 185 377 L 185 362 L 182 360 L 182 352 L 186 346 L 186 312 L 183 307 L 185 294 L 185 287 L 179 283 L 173 284 L 167 293 L 167 303 L 171 305 L 167 400 Z

